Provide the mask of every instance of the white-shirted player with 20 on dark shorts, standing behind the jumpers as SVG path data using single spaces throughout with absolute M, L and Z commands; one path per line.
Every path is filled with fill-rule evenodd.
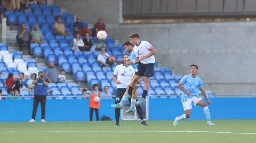
M 129 58 L 128 54 L 124 54 L 124 60 Z M 132 77 L 132 74 L 135 72 L 135 69 L 129 65 L 129 64 L 122 64 L 115 67 L 113 77 L 112 79 L 116 82 L 117 88 L 116 88 L 116 100 L 115 104 L 119 104 L 119 102 L 122 100 L 123 95 L 126 92 L 127 85 Z M 116 79 L 117 76 L 117 79 Z M 136 99 L 129 99 L 129 102 L 136 102 Z M 120 117 L 120 109 L 122 108 L 115 108 L 115 117 L 116 117 L 116 124 L 115 126 L 119 126 L 119 117 Z M 144 121 L 143 118 L 143 111 L 140 105 L 136 107 L 137 112 L 141 118 L 141 124 L 147 126 L 148 124 Z

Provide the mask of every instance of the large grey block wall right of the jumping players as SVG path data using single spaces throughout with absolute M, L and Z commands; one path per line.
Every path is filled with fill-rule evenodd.
M 197 64 L 198 76 L 214 93 L 256 93 L 256 21 L 120 25 L 122 42 L 134 32 L 155 47 L 158 63 L 179 75 Z

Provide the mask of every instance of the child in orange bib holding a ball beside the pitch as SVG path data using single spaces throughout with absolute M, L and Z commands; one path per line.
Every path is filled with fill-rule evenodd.
M 93 111 L 95 110 L 96 120 L 99 121 L 99 109 L 100 109 L 100 102 L 96 103 L 94 101 L 94 97 L 99 97 L 101 101 L 101 93 L 99 91 L 99 85 L 93 85 L 93 91 L 91 91 L 89 97 L 89 108 L 90 108 L 90 121 L 93 121 Z

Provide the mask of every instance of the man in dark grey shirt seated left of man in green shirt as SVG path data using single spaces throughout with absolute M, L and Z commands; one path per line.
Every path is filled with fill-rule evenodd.
M 19 51 L 22 51 L 23 50 L 22 44 L 24 43 L 27 43 L 30 49 L 30 43 L 34 42 L 34 35 L 28 28 L 26 28 L 25 23 L 22 23 L 20 26 L 21 28 L 18 30 L 18 43 L 19 43 Z

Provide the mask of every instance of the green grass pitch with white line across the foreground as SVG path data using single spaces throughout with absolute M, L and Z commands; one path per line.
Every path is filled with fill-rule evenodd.
M 256 143 L 256 120 L 147 122 L 0 123 L 0 143 Z

